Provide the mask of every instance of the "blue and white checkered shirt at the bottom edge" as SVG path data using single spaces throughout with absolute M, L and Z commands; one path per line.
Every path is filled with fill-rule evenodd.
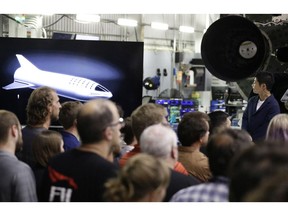
M 207 183 L 184 188 L 170 202 L 228 202 L 228 178 L 218 176 Z

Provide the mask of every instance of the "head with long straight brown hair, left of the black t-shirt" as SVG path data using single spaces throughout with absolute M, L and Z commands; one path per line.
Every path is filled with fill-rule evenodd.
M 36 162 L 46 167 L 50 158 L 64 152 L 61 134 L 52 130 L 41 131 L 32 142 L 32 151 Z

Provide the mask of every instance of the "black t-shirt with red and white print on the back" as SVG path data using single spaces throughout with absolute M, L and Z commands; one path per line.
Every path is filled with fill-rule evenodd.
M 49 161 L 40 201 L 101 202 L 107 179 L 117 167 L 101 156 L 72 149 Z

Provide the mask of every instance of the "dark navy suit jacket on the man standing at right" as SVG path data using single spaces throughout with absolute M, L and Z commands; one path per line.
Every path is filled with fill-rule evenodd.
M 253 141 L 264 139 L 270 120 L 280 113 L 278 101 L 273 95 L 269 96 L 256 111 L 259 96 L 249 99 L 242 117 L 242 129 L 245 129 Z

